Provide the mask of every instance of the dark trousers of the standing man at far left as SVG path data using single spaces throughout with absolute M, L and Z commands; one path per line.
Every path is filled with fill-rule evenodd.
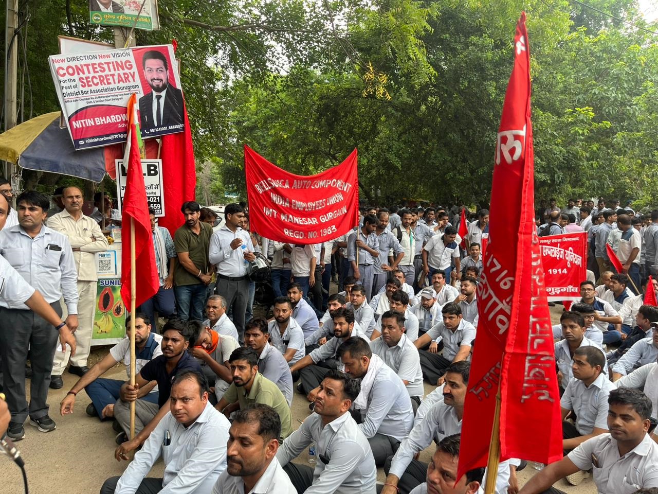
M 62 315 L 59 300 L 50 306 Z M 48 387 L 59 331 L 31 310 L 0 308 L 0 320 L 3 321 L 0 327 L 2 380 L 11 421 L 23 424 L 28 413 L 32 418 L 42 418 L 48 414 Z M 57 350 L 61 352 L 62 348 Z M 28 356 L 32 363 L 29 408 L 25 393 Z

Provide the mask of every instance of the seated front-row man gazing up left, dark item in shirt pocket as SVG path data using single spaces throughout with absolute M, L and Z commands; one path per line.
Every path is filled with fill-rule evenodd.
M 297 492 L 374 494 L 377 470 L 370 444 L 349 407 L 361 385 L 349 374 L 331 370 L 322 379 L 314 413 L 286 438 L 276 453 Z M 315 470 L 291 461 L 316 444 Z

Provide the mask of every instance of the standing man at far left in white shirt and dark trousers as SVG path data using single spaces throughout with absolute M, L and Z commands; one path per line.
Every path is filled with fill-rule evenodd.
M 3 387 L 11 411 L 12 439 L 22 439 L 22 425 L 30 416 L 30 424 L 41 432 L 55 430 L 55 422 L 48 416 L 47 395 L 53 370 L 53 357 L 57 343 L 57 331 L 61 327 L 75 332 L 78 329 L 78 273 L 66 235 L 43 224 L 49 200 L 28 190 L 16 200 L 18 225 L 0 231 L 0 254 L 18 271 L 23 279 L 43 294 L 59 316 L 62 314 L 60 300 L 68 310 L 66 324 L 51 325 L 26 304 L 13 300 L 0 300 L 0 317 L 3 327 L 11 331 L 0 331 L 0 358 L 2 360 Z M 26 401 L 25 362 L 32 363 L 30 379 L 30 404 Z

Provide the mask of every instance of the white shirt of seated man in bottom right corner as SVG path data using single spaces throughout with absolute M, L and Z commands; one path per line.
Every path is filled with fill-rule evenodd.
M 632 494 L 643 487 L 658 487 L 658 445 L 648 434 L 624 456 L 619 456 L 617 441 L 609 433 L 584 441 L 567 456 L 580 470 L 592 469 L 599 494 Z

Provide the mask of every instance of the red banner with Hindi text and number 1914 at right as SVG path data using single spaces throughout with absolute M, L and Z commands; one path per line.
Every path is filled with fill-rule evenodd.
M 587 233 L 540 236 L 546 295 L 553 300 L 580 300 L 587 279 Z

